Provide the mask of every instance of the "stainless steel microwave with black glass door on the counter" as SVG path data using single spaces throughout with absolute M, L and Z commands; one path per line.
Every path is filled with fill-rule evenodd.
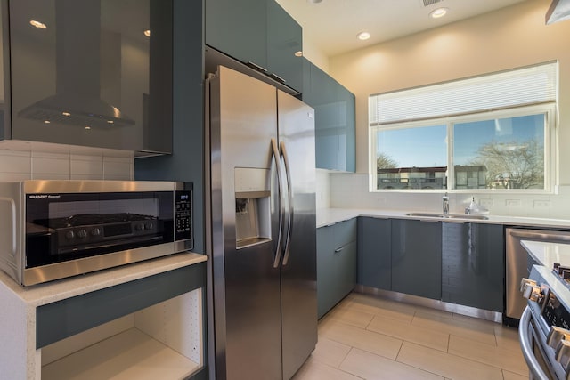
M 192 248 L 184 182 L 0 183 L 0 268 L 21 285 Z

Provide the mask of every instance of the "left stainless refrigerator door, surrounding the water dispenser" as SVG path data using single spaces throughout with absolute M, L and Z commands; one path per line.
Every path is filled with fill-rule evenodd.
M 273 86 L 224 67 L 210 79 L 209 93 L 216 378 L 280 379 L 280 268 L 273 263 L 281 206 L 275 200 L 271 149 L 271 140 L 277 139 L 277 95 Z M 265 172 L 270 178 L 256 180 L 262 184 L 250 192 L 243 184 L 235 189 L 244 173 L 256 177 Z M 256 244 L 240 246 L 236 214 L 248 212 L 247 199 L 262 202 L 265 181 L 271 190 L 265 218 L 272 224 L 269 233 Z M 260 210 L 256 213 L 263 214 Z

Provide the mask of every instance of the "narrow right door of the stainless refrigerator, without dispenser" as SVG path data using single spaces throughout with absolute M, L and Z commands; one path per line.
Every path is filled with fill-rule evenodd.
M 284 235 L 289 224 L 291 230 L 289 257 L 281 266 L 283 378 L 289 379 L 317 342 L 314 110 L 278 91 L 278 124 L 291 191 L 283 194 L 291 199 L 285 206 Z

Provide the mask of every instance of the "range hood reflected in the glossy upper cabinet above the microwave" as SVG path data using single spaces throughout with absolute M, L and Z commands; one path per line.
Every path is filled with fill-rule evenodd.
M 55 18 L 55 95 L 22 109 L 19 116 L 91 127 L 134 125 L 101 99 L 101 1 L 56 0 Z

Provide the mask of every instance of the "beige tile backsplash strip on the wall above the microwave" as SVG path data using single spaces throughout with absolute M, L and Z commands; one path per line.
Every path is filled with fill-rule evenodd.
M 57 144 L 0 143 L 0 181 L 134 179 L 134 153 Z

